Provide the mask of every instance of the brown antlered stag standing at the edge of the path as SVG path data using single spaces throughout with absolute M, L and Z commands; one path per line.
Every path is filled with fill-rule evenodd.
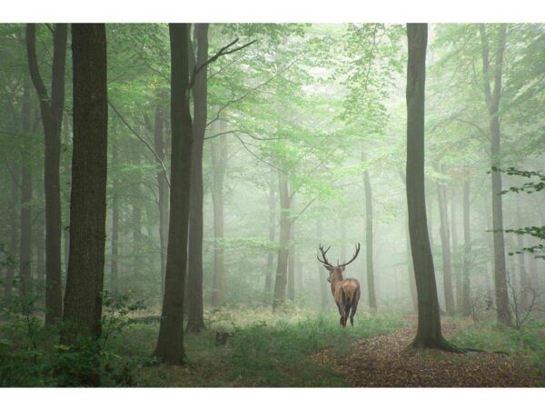
M 358 302 L 360 301 L 361 294 L 360 282 L 355 278 L 344 278 L 342 277 L 342 273 L 344 272 L 344 267 L 351 264 L 358 256 L 358 253 L 360 253 L 360 244 L 356 244 L 356 251 L 349 262 L 339 264 L 339 260 L 337 260 L 337 265 L 332 265 L 329 261 L 327 261 L 326 254 L 330 248 L 331 245 L 327 248 L 327 250 L 323 250 L 323 246 L 320 244 L 322 259 L 318 254 L 316 254 L 316 258 L 329 272 L 327 281 L 332 284 L 332 294 L 333 298 L 335 299 L 335 304 L 337 304 L 337 308 L 339 309 L 339 314 L 341 314 L 342 328 L 346 328 L 346 319 L 348 318 L 349 314 L 350 324 L 354 326 L 354 315 L 358 310 Z

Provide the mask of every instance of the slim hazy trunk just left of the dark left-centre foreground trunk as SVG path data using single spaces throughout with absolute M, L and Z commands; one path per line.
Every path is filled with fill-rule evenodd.
M 164 163 L 165 143 L 164 143 L 164 107 L 163 99 L 166 97 L 165 91 L 157 92 L 157 105 L 155 105 L 154 120 L 154 145 L 155 153 Z M 164 272 L 166 269 L 166 247 L 168 243 L 168 196 L 169 186 L 168 178 L 163 167 L 157 170 L 157 190 L 159 191 L 159 239 L 161 242 L 161 300 L 164 296 Z

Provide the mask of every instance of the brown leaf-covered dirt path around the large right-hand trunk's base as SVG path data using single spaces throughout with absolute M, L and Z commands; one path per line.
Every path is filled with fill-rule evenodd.
M 443 325 L 447 337 L 456 330 Z M 348 355 L 335 357 L 332 350 L 324 350 L 315 359 L 346 375 L 347 382 L 357 387 L 537 386 L 535 370 L 515 356 L 407 350 L 415 332 L 413 325 L 359 341 Z

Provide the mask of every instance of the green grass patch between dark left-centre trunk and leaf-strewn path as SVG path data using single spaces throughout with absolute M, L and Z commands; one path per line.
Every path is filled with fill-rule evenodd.
M 245 310 L 217 312 L 208 317 L 202 334 L 186 334 L 188 365 L 153 365 L 135 376 L 139 386 L 346 386 L 342 375 L 318 364 L 312 354 L 333 348 L 346 354 L 356 339 L 391 333 L 404 323 L 396 315 L 356 317 L 342 330 L 333 313 L 288 314 Z M 112 345 L 115 354 L 149 355 L 158 323 L 135 324 Z M 229 332 L 229 342 L 215 344 L 216 331 Z

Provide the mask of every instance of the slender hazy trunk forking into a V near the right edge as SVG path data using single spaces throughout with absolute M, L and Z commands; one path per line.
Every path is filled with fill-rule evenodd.
M 494 67 L 494 89 L 490 89 L 489 44 L 485 25 L 480 25 L 482 45 L 482 72 L 484 94 L 490 115 L 490 157 L 492 182 L 492 229 L 494 238 L 494 286 L 496 289 L 496 313 L 500 324 L 511 325 L 509 295 L 505 269 L 505 243 L 503 238 L 503 210 L 501 204 L 501 150 L 500 150 L 500 98 L 501 71 L 505 51 L 506 25 L 500 26 L 496 61 Z

